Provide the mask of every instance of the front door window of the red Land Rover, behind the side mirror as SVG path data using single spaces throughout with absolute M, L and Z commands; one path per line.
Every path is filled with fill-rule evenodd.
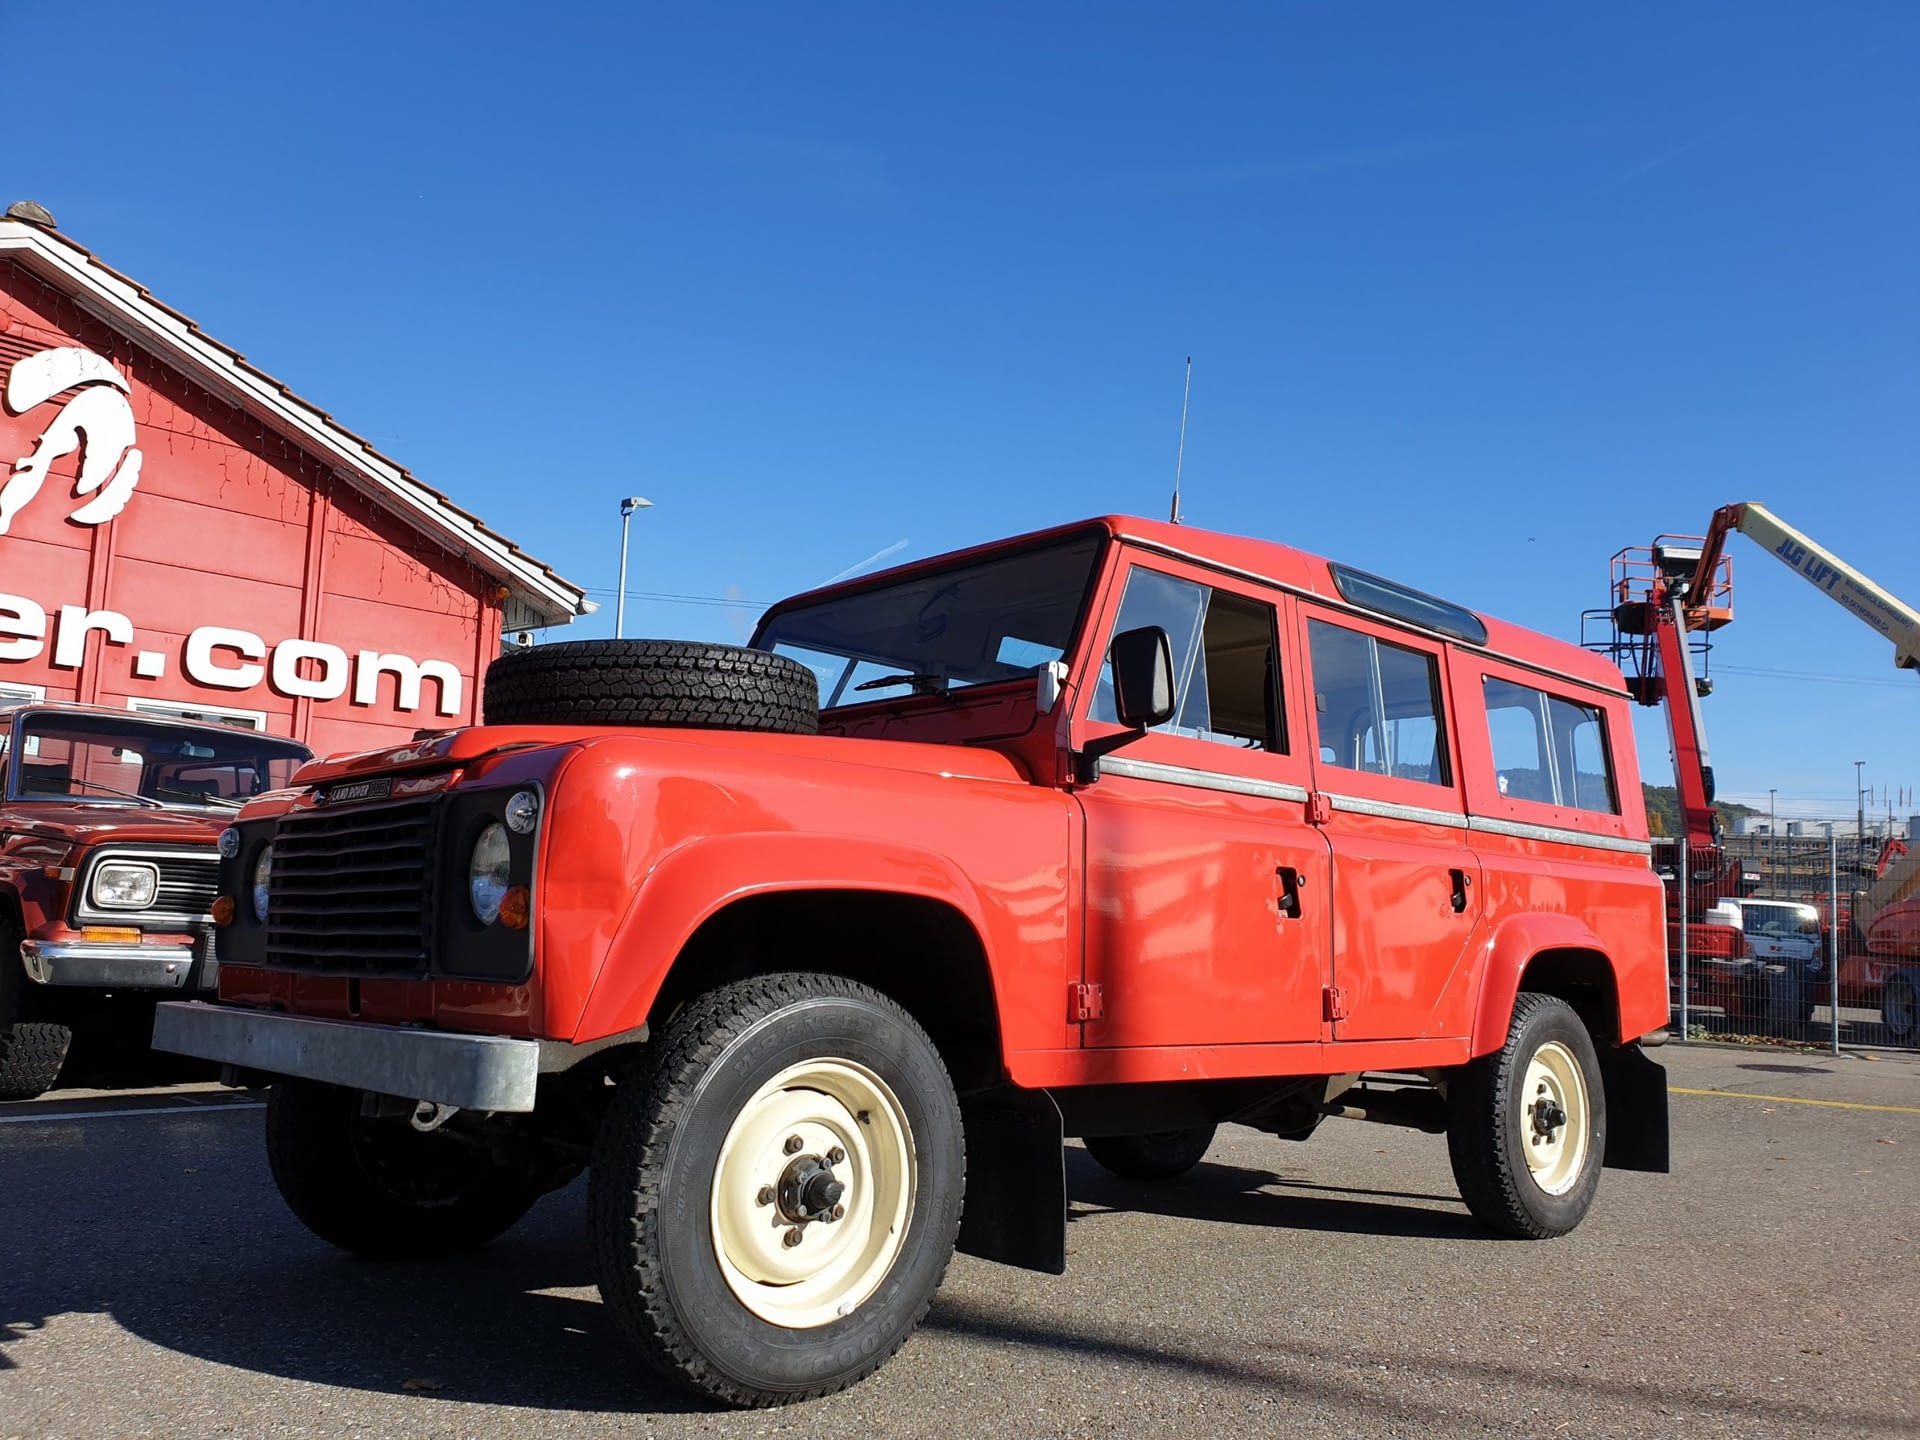
M 1286 751 L 1271 605 L 1135 566 L 1114 634 L 1142 626 L 1165 630 L 1173 651 L 1173 718 L 1162 733 Z M 1108 666 L 1092 718 L 1117 722 Z

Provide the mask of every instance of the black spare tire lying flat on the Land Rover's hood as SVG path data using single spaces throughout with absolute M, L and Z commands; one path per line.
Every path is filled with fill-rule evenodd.
M 674 726 L 820 732 L 820 682 L 799 660 L 685 639 L 568 639 L 501 655 L 490 726 Z

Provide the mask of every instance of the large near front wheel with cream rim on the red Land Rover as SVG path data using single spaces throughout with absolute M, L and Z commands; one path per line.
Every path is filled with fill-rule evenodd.
M 710 1400 L 824 1396 L 914 1332 L 964 1190 L 960 1106 L 904 1010 L 835 975 L 745 979 L 614 1089 L 588 1190 L 601 1298 Z

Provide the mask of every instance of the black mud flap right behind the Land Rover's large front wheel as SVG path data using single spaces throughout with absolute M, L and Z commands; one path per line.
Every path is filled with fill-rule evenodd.
M 962 1098 L 960 1119 L 966 1125 L 960 1252 L 1064 1275 L 1066 1137 L 1052 1096 L 1002 1085 Z

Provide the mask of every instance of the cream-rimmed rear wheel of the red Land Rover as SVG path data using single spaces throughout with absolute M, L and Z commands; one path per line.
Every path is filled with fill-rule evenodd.
M 1605 1154 L 1594 1039 L 1565 1000 L 1521 993 L 1507 1043 L 1448 1087 L 1448 1156 L 1461 1198 L 1501 1235 L 1565 1235 L 1594 1202 Z

